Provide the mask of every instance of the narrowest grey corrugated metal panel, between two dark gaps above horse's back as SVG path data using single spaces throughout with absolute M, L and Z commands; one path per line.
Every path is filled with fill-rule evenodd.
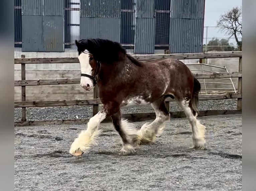
M 154 0 L 136 1 L 134 53 L 155 52 Z

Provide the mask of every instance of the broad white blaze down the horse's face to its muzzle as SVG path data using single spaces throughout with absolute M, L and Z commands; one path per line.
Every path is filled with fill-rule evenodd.
M 86 52 L 86 53 L 84 53 L 84 52 Z M 81 67 L 81 74 L 92 75 L 92 67 L 89 64 L 89 52 L 88 52 L 88 50 L 85 50 L 84 52 L 82 52 L 78 57 L 78 60 L 80 62 L 80 67 Z M 89 84 L 90 88 L 93 88 L 92 79 L 85 77 L 85 76 L 81 76 L 80 85 L 83 88 L 86 88 L 87 84 Z M 91 89 L 89 89 L 89 90 L 91 90 Z

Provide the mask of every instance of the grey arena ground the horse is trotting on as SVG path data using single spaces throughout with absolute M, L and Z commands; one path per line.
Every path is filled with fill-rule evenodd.
M 15 190 L 242 190 L 242 115 L 199 118 L 207 127 L 206 150 L 188 148 L 190 125 L 175 118 L 154 144 L 129 156 L 119 155 L 111 123 L 101 124 L 98 145 L 80 157 L 69 148 L 84 125 L 15 127 Z

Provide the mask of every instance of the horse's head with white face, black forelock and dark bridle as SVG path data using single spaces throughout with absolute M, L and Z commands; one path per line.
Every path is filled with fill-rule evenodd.
M 80 85 L 86 91 L 90 91 L 96 84 L 95 75 L 99 72 L 98 63 L 94 59 L 93 54 L 89 51 L 91 47 L 87 40 L 76 40 L 76 45 L 81 67 Z

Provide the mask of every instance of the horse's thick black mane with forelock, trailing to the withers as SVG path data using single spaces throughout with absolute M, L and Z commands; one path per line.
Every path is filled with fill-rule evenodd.
M 100 62 L 113 63 L 120 60 L 120 53 L 123 53 L 127 58 L 137 66 L 141 66 L 142 63 L 137 61 L 131 55 L 127 54 L 126 50 L 118 42 L 114 42 L 107 39 L 82 39 L 80 40 L 78 51 L 82 52 L 87 49 L 92 53 L 93 57 Z

